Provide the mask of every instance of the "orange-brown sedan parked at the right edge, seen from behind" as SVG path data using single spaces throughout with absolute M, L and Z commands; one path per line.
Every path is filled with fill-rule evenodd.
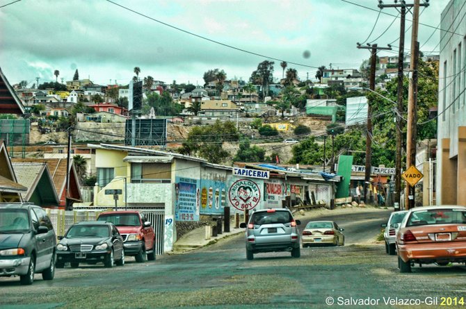
M 406 213 L 396 234 L 400 272 L 415 263 L 466 263 L 466 207 L 426 206 Z

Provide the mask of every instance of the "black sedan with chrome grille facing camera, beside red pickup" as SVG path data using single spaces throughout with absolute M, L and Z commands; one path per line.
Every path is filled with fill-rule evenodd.
M 79 267 L 87 262 L 95 265 L 103 262 L 105 267 L 124 265 L 123 238 L 110 222 L 83 221 L 68 228 L 64 237 L 58 237 L 56 267 Z

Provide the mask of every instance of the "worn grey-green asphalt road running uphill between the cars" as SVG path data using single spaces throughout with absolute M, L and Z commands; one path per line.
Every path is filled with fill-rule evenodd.
M 236 235 L 154 262 L 129 258 L 124 267 L 113 269 L 66 267 L 57 270 L 54 281 L 36 275 L 30 286 L 19 285 L 18 278 L 0 278 L 0 308 L 438 308 L 442 297 L 452 302 L 466 297 L 466 267 L 399 273 L 396 256 L 374 243 L 388 215 L 321 217 L 345 228 L 345 246 L 301 249 L 300 258 L 259 253 L 248 261 L 243 235 Z M 302 222 L 301 227 L 307 220 Z M 326 304 L 329 297 L 332 306 Z M 400 301 L 435 303 L 436 297 L 432 306 L 396 306 Z M 398 303 L 385 304 L 389 301 Z

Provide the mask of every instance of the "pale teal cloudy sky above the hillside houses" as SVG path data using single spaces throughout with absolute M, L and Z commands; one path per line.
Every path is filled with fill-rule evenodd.
M 430 2 L 424 11 L 421 8 L 419 42 L 424 53 L 439 51 L 441 34 L 435 27 L 449 3 Z M 301 79 L 307 74 L 314 78 L 321 65 L 359 68 L 369 51 L 357 49 L 356 42 L 393 42 L 394 52 L 379 55 L 398 53 L 398 12 L 384 8 L 379 16 L 377 4 L 378 0 L 0 0 L 0 66 L 10 83 L 26 80 L 30 87 L 36 77 L 39 83 L 55 81 L 56 69 L 58 81 L 70 81 L 78 69 L 79 78 L 94 83 L 127 84 L 136 66 L 140 77 L 150 75 L 166 83 L 202 85 L 204 72 L 215 68 L 224 69 L 227 78 L 248 80 L 259 62 L 270 58 L 275 58 L 275 78 L 282 76 L 280 60 L 297 69 Z M 408 28 L 412 16 L 407 19 Z M 409 30 L 405 38 L 407 51 L 410 34 Z

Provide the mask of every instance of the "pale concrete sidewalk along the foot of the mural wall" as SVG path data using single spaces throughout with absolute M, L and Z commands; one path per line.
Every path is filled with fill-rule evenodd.
M 191 251 L 200 247 L 207 246 L 209 244 L 215 244 L 218 240 L 221 240 L 232 235 L 237 235 L 239 233 L 245 233 L 244 228 L 234 228 L 230 226 L 229 233 L 221 233 L 215 237 L 210 237 L 209 240 L 205 239 L 205 226 L 196 228 L 193 231 L 190 231 L 183 235 L 182 237 L 173 244 L 173 250 L 168 252 L 168 254 L 179 254 L 186 251 Z

